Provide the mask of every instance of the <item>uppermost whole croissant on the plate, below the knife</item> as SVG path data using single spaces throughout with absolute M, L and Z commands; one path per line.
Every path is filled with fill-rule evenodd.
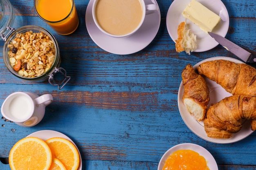
M 231 94 L 256 96 L 256 69 L 247 64 L 214 60 L 200 64 L 198 73 L 220 84 Z

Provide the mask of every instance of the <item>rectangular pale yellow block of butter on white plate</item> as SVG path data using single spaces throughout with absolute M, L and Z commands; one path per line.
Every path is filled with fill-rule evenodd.
M 186 6 L 182 15 L 197 24 L 206 33 L 211 32 L 220 22 L 220 16 L 204 7 L 200 2 L 191 0 Z

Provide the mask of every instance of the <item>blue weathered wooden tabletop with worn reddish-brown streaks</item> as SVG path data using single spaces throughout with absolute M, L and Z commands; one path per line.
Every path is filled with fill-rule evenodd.
M 202 53 L 177 53 L 166 29 L 166 13 L 173 0 L 157 0 L 161 24 L 145 49 L 116 55 L 99 48 L 85 26 L 89 0 L 75 0 L 79 27 L 71 35 L 58 35 L 34 11 L 33 0 L 10 0 L 16 13 L 14 28 L 42 26 L 59 43 L 61 67 L 71 76 L 62 89 L 46 82 L 25 82 L 14 77 L 0 59 L 0 105 L 16 91 L 52 94 L 45 117 L 25 128 L 0 119 L 0 157 L 8 157 L 13 144 L 38 130 L 56 130 L 78 146 L 83 170 L 156 170 L 166 150 L 181 143 L 203 146 L 220 170 L 256 168 L 256 134 L 232 144 L 215 144 L 195 135 L 177 106 L 181 72 L 215 56 L 234 57 L 218 45 Z M 250 50 L 256 46 L 256 1 L 222 0 L 230 18 L 226 38 Z M 0 56 L 4 42 L 0 41 Z M 2 116 L 2 115 L 1 115 Z M 9 170 L 0 163 L 0 170 Z

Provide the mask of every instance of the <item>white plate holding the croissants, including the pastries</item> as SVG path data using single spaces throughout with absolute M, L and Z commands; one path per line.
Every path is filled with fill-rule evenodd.
M 178 107 L 186 126 L 206 141 L 230 144 L 256 129 L 256 69 L 211 57 L 182 71 Z

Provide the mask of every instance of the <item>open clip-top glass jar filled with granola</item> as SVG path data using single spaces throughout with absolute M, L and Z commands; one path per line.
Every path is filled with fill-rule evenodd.
M 60 49 L 54 36 L 34 25 L 12 31 L 3 46 L 3 60 L 8 70 L 23 80 L 41 82 L 48 79 L 58 89 L 63 88 L 70 77 L 59 67 Z

